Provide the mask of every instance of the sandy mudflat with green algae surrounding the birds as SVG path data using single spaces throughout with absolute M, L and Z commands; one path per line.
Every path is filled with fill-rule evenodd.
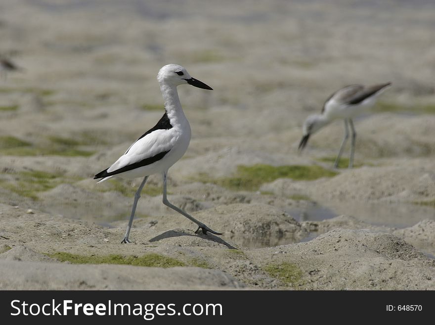
M 25 71 L 0 82 L 0 289 L 435 289 L 434 4 L 224 2 L 1 1 Z M 223 235 L 156 175 L 125 245 L 140 180 L 92 177 L 163 114 L 167 63 L 214 88 L 178 88 L 192 140 L 169 199 Z M 342 122 L 298 154 L 330 93 L 387 81 L 356 168 L 332 169 Z

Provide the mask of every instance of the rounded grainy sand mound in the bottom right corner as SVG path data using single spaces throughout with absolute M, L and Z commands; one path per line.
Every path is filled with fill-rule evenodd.
M 435 289 L 434 260 L 392 234 L 337 229 L 296 245 L 262 249 L 274 265 L 300 268 L 297 287 Z M 261 259 L 260 252 L 253 252 Z

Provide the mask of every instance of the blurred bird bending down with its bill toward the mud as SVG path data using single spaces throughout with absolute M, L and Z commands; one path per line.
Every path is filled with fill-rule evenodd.
M 319 131 L 324 126 L 334 120 L 345 121 L 345 138 L 338 152 L 334 168 L 337 168 L 343 149 L 349 138 L 349 126 L 351 131 L 350 139 L 350 159 L 349 168 L 353 167 L 353 155 L 355 152 L 356 132 L 353 127 L 352 118 L 361 115 L 368 108 L 372 107 L 377 97 L 383 93 L 391 83 L 385 83 L 373 86 L 350 85 L 333 93 L 323 104 L 320 114 L 308 116 L 303 126 L 303 137 L 299 143 L 299 150 L 302 151 L 311 135 Z

